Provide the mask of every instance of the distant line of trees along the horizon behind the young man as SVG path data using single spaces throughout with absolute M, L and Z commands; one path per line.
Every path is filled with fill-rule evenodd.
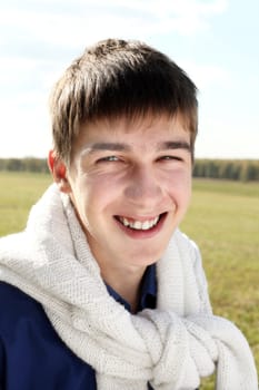
M 46 158 L 0 158 L 0 170 L 48 173 Z M 259 159 L 196 159 L 193 177 L 259 182 Z

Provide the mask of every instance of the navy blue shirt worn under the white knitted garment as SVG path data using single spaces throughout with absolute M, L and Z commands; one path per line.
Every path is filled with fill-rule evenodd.
M 110 286 L 109 293 L 130 310 Z M 147 269 L 139 311 L 155 309 L 156 266 Z M 59 338 L 41 304 L 0 282 L 0 389 L 96 390 L 94 370 Z

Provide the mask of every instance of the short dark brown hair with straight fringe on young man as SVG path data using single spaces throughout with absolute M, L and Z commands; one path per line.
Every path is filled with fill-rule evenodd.
M 197 88 L 171 59 L 143 42 L 108 39 L 86 49 L 56 84 L 50 110 L 53 148 L 67 163 L 82 124 L 147 114 L 180 113 L 193 152 Z

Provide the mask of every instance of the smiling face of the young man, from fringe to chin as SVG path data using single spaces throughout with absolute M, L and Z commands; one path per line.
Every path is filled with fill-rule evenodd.
M 67 192 L 101 267 L 162 255 L 190 201 L 191 165 L 180 116 L 82 126 Z

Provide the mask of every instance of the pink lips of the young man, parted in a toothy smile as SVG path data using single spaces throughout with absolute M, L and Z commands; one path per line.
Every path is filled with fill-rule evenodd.
M 128 227 L 128 226 L 124 226 L 118 218 L 118 216 L 114 216 L 114 221 L 116 223 L 118 224 L 118 226 L 120 227 L 120 230 L 122 230 L 122 232 L 124 232 L 129 237 L 131 238 L 136 238 L 136 240 L 141 240 L 141 238 L 151 238 L 153 237 L 156 234 L 158 234 L 163 224 L 165 224 L 165 221 L 167 218 L 167 215 L 168 213 L 162 213 L 160 214 L 160 218 L 157 223 L 156 226 L 149 228 L 148 231 L 141 231 L 141 230 L 133 230 L 131 227 Z M 133 220 L 132 217 L 129 218 L 129 220 Z M 136 218 L 137 221 L 150 221 L 152 218 L 150 217 L 142 217 L 142 218 Z

